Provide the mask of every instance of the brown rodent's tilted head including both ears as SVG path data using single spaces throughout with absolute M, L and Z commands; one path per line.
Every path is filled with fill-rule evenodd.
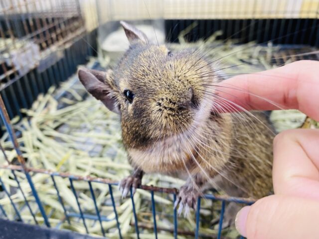
M 114 71 L 79 70 L 86 89 L 121 115 L 127 147 L 145 149 L 200 127 L 209 118 L 213 90 L 210 64 L 194 50 L 171 52 L 121 22 L 130 42 Z M 206 84 L 205 84 L 206 83 Z

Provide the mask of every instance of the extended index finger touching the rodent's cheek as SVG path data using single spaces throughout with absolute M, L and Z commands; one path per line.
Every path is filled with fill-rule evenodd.
M 219 83 L 216 91 L 237 110 L 298 109 L 319 120 L 319 61 L 236 76 Z

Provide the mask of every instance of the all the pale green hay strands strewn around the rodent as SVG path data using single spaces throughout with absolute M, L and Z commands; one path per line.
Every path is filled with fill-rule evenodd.
M 222 61 L 223 68 L 240 65 L 243 62 L 247 63 L 225 69 L 221 75 L 224 74 L 225 77 L 229 77 L 238 72 L 257 72 L 270 69 L 276 65 L 271 64 L 270 59 L 274 57 L 275 52 L 278 54 L 277 48 L 271 45 L 251 47 L 253 43 L 244 45 L 221 44 L 215 39 L 218 34 L 220 33 L 216 32 L 205 43 L 197 42 L 195 46 L 203 47 L 204 50 L 205 47 L 206 49 L 214 47 L 214 50 L 209 54 L 210 57 L 214 57 L 213 59 L 229 55 Z M 184 42 L 184 45 L 186 44 L 194 46 L 194 44 Z M 178 48 L 180 46 L 172 45 L 171 47 Z M 233 54 L 230 55 L 231 53 Z M 107 61 L 109 62 L 109 59 Z M 66 92 L 66 94 L 63 94 L 63 92 Z M 60 95 L 62 97 L 56 100 L 57 96 Z M 68 82 L 63 83 L 60 89 L 52 87 L 46 95 L 40 95 L 31 109 L 23 111 L 27 117 L 19 122 L 17 122 L 17 119 L 12 120 L 15 123 L 15 130 L 20 132 L 18 141 L 21 145 L 23 156 L 27 160 L 26 164 L 32 168 L 68 172 L 78 176 L 121 180 L 129 175 L 132 168 L 127 161 L 127 155 L 121 142 L 119 118 L 114 113 L 109 112 L 103 104 L 94 98 L 88 96 L 83 100 L 84 95 L 85 91 L 77 79 L 70 79 Z M 306 116 L 298 111 L 276 111 L 271 115 L 271 119 L 278 131 L 299 127 L 303 124 L 305 118 Z M 319 124 L 307 119 L 304 127 L 319 127 Z M 8 135 L 4 133 L 1 138 L 1 144 L 8 159 L 15 162 L 15 151 L 7 139 Z M 0 156 L 0 164 L 6 164 L 3 155 Z M 16 174 L 25 195 L 31 200 L 30 205 L 33 212 L 36 212 L 37 220 L 40 223 L 43 222 L 24 174 L 21 172 L 16 172 Z M 60 223 L 64 213 L 51 178 L 46 174 L 31 174 L 45 211 L 47 215 L 50 215 L 49 222 L 51 225 L 61 229 L 71 229 L 85 233 L 81 219 L 70 218 L 71 225 L 68 225 L 66 221 Z M 16 188 L 17 185 L 13 180 L 12 173 L 9 170 L 1 169 L 0 176 L 6 188 L 11 191 L 13 202 L 18 208 L 22 208 L 20 211 L 22 219 L 33 223 L 29 211 L 23 206 L 23 198 Z M 69 213 L 79 213 L 74 195 L 70 189 L 69 180 L 61 177 L 55 177 L 55 180 L 67 211 Z M 178 188 L 183 184 L 183 181 L 163 175 L 146 175 L 143 183 Z M 95 215 L 95 208 L 87 182 L 74 181 L 74 186 L 77 190 L 82 210 L 86 214 Z M 108 186 L 102 183 L 93 183 L 93 187 L 100 214 L 103 217 L 107 217 L 107 219 L 113 219 L 114 213 Z M 134 218 L 131 199 L 122 200 L 118 190 L 114 189 L 113 192 L 117 202 L 122 235 L 124 238 L 135 238 L 134 226 L 132 225 Z M 0 198 L 0 205 L 6 211 L 9 219 L 13 219 L 15 213 L 4 192 L 0 193 Z M 139 223 L 147 227 L 153 225 L 150 199 L 150 192 L 143 190 L 137 190 L 134 197 Z M 173 228 L 172 217 L 168 215 L 172 215 L 172 195 L 156 193 L 155 201 L 157 203 L 158 227 L 167 231 L 171 230 Z M 210 222 L 218 217 L 219 210 L 219 202 L 212 204 L 210 200 L 202 200 L 200 233 L 207 235 L 208 238 L 216 236 L 216 230 Z M 102 235 L 98 221 L 86 219 L 86 224 L 90 234 Z M 118 237 L 115 220 L 103 222 L 102 225 L 107 237 Z M 195 228 L 194 215 L 187 219 L 179 218 L 178 228 L 193 232 Z M 140 230 L 141 238 L 154 238 L 153 230 Z M 173 238 L 170 232 L 161 230 L 159 233 L 162 239 Z M 238 236 L 233 229 L 224 230 L 223 235 L 226 238 L 236 238 Z M 188 237 L 193 238 L 193 236 L 180 236 L 178 238 Z

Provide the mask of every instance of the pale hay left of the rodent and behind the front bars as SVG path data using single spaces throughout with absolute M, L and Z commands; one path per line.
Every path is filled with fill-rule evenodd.
M 15 130 L 21 132 L 18 141 L 21 145 L 23 157 L 26 159 L 28 167 L 47 169 L 53 172 L 68 172 L 77 176 L 91 176 L 108 178 L 115 181 L 123 179 L 130 174 L 132 169 L 127 162 L 127 156 L 121 143 L 121 130 L 119 118 L 116 114 L 109 112 L 103 104 L 88 96 L 84 101 L 78 93 L 79 84 L 72 88 L 63 84 L 61 86 L 68 94 L 67 97 L 54 99 L 57 90 L 50 88 L 48 94 L 39 96 L 30 110 L 24 110 L 27 115 L 19 123 L 14 125 Z M 63 108 L 60 108 L 63 105 Z M 14 121 L 14 120 L 13 120 Z M 5 149 L 8 159 L 15 162 L 15 151 L 7 141 L 8 135 L 5 133 L 1 138 L 1 144 Z M 1 155 L 1 164 L 6 164 Z M 23 198 L 16 190 L 16 182 L 9 170 L 0 170 L 1 179 L 6 188 L 11 188 L 11 198 L 18 208 L 21 208 Z M 37 212 L 36 218 L 40 223 L 43 219 L 38 212 L 37 206 L 31 194 L 30 187 L 21 172 L 16 172 L 21 187 L 27 198 L 33 203 L 33 212 Z M 58 226 L 61 229 L 71 229 L 80 233 L 85 233 L 82 221 L 77 218 L 71 219 L 71 226 L 65 221 L 60 224 L 64 217 L 63 208 L 60 205 L 55 188 L 50 176 L 41 173 L 31 173 L 33 183 L 38 191 L 39 197 L 45 207 L 47 215 L 50 215 L 49 222 L 52 227 Z M 67 178 L 55 177 L 61 198 L 69 213 L 79 213 L 77 203 L 70 188 Z M 73 181 L 77 190 L 82 210 L 86 214 L 96 215 L 94 203 L 90 195 L 88 183 L 84 181 Z M 157 185 L 160 187 L 179 187 L 182 180 L 162 175 L 147 175 L 144 184 Z M 100 214 L 108 219 L 114 218 L 109 189 L 106 184 L 93 183 L 95 197 Z M 3 197 L 0 204 L 3 206 L 8 217 L 13 219 L 14 211 L 9 199 L 1 193 Z M 115 201 L 117 202 L 117 212 L 121 223 L 122 235 L 126 238 L 134 238 L 134 222 L 131 199 L 121 199 L 120 192 L 114 187 Z M 145 226 L 152 226 L 152 211 L 150 206 L 151 193 L 137 190 L 134 196 L 136 210 L 139 215 L 139 223 Z M 172 229 L 172 195 L 156 193 L 157 203 L 157 225 L 166 230 Z M 205 203 L 203 203 L 204 205 Z M 203 214 L 209 215 L 209 211 L 203 209 Z M 32 217 L 26 207 L 20 212 L 23 221 L 33 223 Z M 86 219 L 89 232 L 92 235 L 101 236 L 99 222 Z M 116 221 L 102 223 L 107 231 L 107 237 L 117 238 Z M 186 231 L 193 231 L 195 222 L 193 217 L 179 221 L 179 228 Z M 153 238 L 152 230 L 141 230 L 141 238 Z M 202 229 L 208 235 L 216 234 L 215 230 Z M 171 233 L 160 231 L 161 238 L 173 238 Z M 181 237 L 183 238 L 183 237 Z

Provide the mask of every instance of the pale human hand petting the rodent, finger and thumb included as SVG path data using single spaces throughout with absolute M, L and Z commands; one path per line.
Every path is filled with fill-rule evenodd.
M 319 61 L 294 62 L 222 84 L 227 88 L 219 95 L 238 110 L 298 109 L 319 120 Z M 248 239 L 319 238 L 319 129 L 283 131 L 273 151 L 275 194 L 237 214 L 238 232 Z

